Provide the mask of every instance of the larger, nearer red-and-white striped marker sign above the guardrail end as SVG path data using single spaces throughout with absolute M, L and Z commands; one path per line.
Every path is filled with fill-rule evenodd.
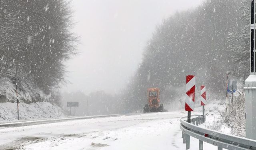
M 194 111 L 195 88 L 196 88 L 196 77 L 193 75 L 188 75 L 186 78 L 186 99 L 185 99 L 186 111 Z

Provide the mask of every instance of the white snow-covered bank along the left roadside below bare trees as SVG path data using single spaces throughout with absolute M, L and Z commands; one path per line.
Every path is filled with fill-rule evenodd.
M 66 116 L 62 108 L 49 102 L 19 103 L 20 120 L 56 118 Z M 0 103 L 0 121 L 13 121 L 17 119 L 17 103 Z

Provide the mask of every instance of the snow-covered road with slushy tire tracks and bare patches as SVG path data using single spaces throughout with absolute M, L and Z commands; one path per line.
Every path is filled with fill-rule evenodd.
M 163 112 L 0 128 L 0 149 L 185 150 L 182 116 L 186 113 Z M 190 143 L 191 150 L 198 149 L 198 140 L 191 138 Z

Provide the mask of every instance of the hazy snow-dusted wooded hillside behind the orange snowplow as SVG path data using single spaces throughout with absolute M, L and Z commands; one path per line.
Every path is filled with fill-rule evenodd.
M 244 80 L 250 72 L 249 18 L 248 0 L 206 0 L 163 20 L 118 105 L 142 109 L 148 87 L 159 87 L 161 100 L 171 102 L 188 74 L 196 75 L 197 87 L 216 94 L 225 92 L 226 72 Z

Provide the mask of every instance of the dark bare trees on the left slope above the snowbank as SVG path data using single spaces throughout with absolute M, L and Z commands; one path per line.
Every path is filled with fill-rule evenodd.
M 66 0 L 0 0 L 0 98 L 12 101 L 8 82 L 21 100 L 54 98 L 64 62 L 76 53 L 71 16 Z

